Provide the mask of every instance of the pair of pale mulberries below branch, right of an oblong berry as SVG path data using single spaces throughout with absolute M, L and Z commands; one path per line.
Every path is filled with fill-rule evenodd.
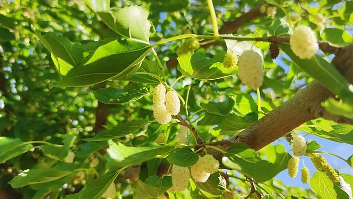
M 219 162 L 212 155 L 199 156 L 198 161 L 190 167 L 191 177 L 196 182 L 204 183 L 218 168 Z

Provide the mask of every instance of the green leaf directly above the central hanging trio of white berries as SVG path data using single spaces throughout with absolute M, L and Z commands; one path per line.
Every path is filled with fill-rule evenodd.
M 165 61 L 161 61 L 164 67 L 164 75 L 168 75 L 168 67 Z M 159 78 L 158 78 L 159 77 Z M 146 84 L 160 84 L 163 79 L 163 71 L 158 65 L 157 61 L 151 61 L 145 59 L 140 69 L 135 73 L 134 76 L 130 77 L 131 81 L 146 83 Z

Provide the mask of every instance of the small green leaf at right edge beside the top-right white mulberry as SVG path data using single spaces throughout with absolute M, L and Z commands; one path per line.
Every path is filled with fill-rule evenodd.
M 349 45 L 353 42 L 353 36 L 346 30 L 339 28 L 325 28 L 321 34 L 323 41 L 327 41 L 336 45 Z

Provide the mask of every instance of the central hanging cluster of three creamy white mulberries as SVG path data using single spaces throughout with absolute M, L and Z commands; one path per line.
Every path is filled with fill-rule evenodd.
M 165 104 L 166 103 L 166 104 Z M 172 115 L 180 111 L 180 100 L 175 91 L 168 91 L 163 84 L 153 89 L 153 116 L 161 124 L 167 124 L 172 120 Z

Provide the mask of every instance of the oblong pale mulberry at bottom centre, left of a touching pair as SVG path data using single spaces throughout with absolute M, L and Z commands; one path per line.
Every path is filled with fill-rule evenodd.
M 189 183 L 190 172 L 187 167 L 179 167 L 173 165 L 172 168 L 172 183 L 176 191 L 184 191 Z

